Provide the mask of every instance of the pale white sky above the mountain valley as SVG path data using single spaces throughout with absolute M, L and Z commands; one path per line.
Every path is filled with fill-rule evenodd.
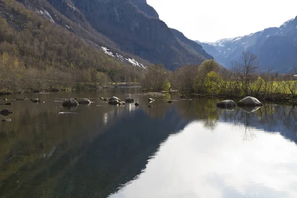
M 189 39 L 215 42 L 279 27 L 297 16 L 297 0 L 147 0 L 160 19 Z

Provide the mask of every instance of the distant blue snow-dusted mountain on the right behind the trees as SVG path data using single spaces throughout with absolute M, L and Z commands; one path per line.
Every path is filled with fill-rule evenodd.
M 297 17 L 280 27 L 264 29 L 243 37 L 201 43 L 203 49 L 225 67 L 238 60 L 242 51 L 258 55 L 261 69 L 286 73 L 297 67 Z

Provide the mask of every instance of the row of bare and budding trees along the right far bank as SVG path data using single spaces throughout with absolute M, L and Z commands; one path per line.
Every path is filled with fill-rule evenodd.
M 257 56 L 244 51 L 238 61 L 226 69 L 215 60 L 200 65 L 187 65 L 176 71 L 166 71 L 163 65 L 154 65 L 143 74 L 141 83 L 146 90 L 179 90 L 208 96 L 283 99 L 297 95 L 297 69 L 292 73 L 262 72 Z

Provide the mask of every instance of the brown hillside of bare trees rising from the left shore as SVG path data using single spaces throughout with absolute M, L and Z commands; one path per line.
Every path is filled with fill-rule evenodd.
M 141 68 L 104 53 L 15 0 L 0 1 L 0 92 L 132 81 Z

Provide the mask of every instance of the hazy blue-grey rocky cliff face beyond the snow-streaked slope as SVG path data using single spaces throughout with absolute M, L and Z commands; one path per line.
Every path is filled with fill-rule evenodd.
M 122 50 L 151 63 L 164 64 L 174 70 L 206 59 L 178 42 L 158 17 L 151 17 L 156 12 L 144 0 L 73 0 L 73 3 L 97 31 Z

